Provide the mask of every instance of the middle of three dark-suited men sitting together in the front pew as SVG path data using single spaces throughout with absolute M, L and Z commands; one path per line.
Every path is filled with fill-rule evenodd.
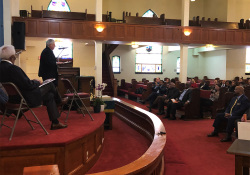
M 175 84 L 171 82 L 169 84 L 169 87 L 167 89 L 167 92 L 163 96 L 158 96 L 154 103 L 153 106 L 158 106 L 158 115 L 163 115 L 164 114 L 164 105 L 169 102 L 171 99 L 176 99 L 180 96 L 180 91 L 175 87 Z

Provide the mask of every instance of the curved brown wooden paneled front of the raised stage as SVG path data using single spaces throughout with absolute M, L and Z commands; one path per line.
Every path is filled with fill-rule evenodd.
M 104 126 L 64 146 L 0 150 L 0 174 L 22 175 L 24 167 L 57 164 L 60 174 L 85 174 L 103 149 Z

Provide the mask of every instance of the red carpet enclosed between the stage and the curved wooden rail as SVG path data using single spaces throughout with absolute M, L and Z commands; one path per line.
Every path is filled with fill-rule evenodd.
M 103 152 L 88 173 L 108 171 L 131 163 L 150 146 L 150 141 L 117 117 L 113 117 L 113 130 L 106 130 L 104 138 Z

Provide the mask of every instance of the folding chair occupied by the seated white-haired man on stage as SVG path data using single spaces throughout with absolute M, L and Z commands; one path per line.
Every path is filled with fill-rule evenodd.
M 11 103 L 11 102 L 7 102 L 6 105 L 5 105 L 5 112 L 4 112 L 3 118 L 1 120 L 0 130 L 1 130 L 2 126 L 6 126 L 6 127 L 8 127 L 8 128 L 11 129 L 11 134 L 10 134 L 9 140 L 12 139 L 12 136 L 13 136 L 13 133 L 14 133 L 17 121 L 18 121 L 18 116 L 20 114 L 22 114 L 24 116 L 25 120 L 29 123 L 29 125 L 30 125 L 30 127 L 32 129 L 35 129 L 35 128 L 32 126 L 31 122 L 39 124 L 42 127 L 42 129 L 44 130 L 44 132 L 46 133 L 46 135 L 48 135 L 49 133 L 46 131 L 46 129 L 44 128 L 44 126 L 42 125 L 42 123 L 39 121 L 39 119 L 37 118 L 37 116 L 35 115 L 35 113 L 33 112 L 33 110 L 29 107 L 29 105 L 27 104 L 26 100 L 24 99 L 24 97 L 22 96 L 21 92 L 18 90 L 18 88 L 16 87 L 16 85 L 14 85 L 13 83 L 10 83 L 10 82 L 8 82 L 8 83 L 2 83 L 2 85 L 5 88 L 7 94 L 9 95 L 9 97 L 10 96 L 16 96 L 18 98 L 20 97 L 20 99 L 21 99 L 21 102 L 19 104 L 14 104 L 14 103 Z M 12 127 L 4 124 L 4 118 L 6 117 L 8 110 L 16 111 L 17 112 L 16 115 L 12 115 L 12 116 L 15 117 L 15 122 L 14 122 L 14 125 Z M 26 112 L 28 110 L 33 114 L 33 116 L 36 119 L 36 121 L 29 120 L 26 117 L 26 115 L 24 114 L 24 112 Z

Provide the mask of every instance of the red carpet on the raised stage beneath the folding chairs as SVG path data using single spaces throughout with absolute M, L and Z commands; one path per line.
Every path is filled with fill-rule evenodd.
M 85 115 L 83 117 L 80 114 L 77 114 L 76 111 L 72 111 L 70 113 L 68 119 L 68 127 L 65 129 L 59 130 L 50 130 L 50 121 L 46 109 L 36 108 L 34 110 L 35 114 L 38 116 L 39 120 L 42 122 L 46 130 L 49 132 L 49 135 L 46 135 L 42 128 L 37 125 L 32 125 L 35 127 L 34 130 L 31 129 L 29 124 L 26 122 L 24 118 L 21 118 L 17 122 L 16 129 L 14 131 L 14 135 L 11 141 L 9 141 L 9 136 L 11 130 L 6 127 L 2 127 L 0 132 L 0 149 L 8 149 L 13 147 L 29 147 L 34 145 L 61 145 L 70 142 L 72 139 L 77 140 L 84 135 L 92 133 L 97 127 L 100 127 L 105 120 L 104 113 L 92 114 L 94 121 L 91 121 L 89 115 Z M 33 119 L 32 114 L 30 112 L 25 113 L 26 116 L 30 119 Z M 66 118 L 65 114 L 59 118 L 59 120 L 64 123 Z M 6 120 L 6 124 L 11 123 L 14 124 L 14 118 L 9 117 Z M 90 127 L 91 126 L 91 127 Z

